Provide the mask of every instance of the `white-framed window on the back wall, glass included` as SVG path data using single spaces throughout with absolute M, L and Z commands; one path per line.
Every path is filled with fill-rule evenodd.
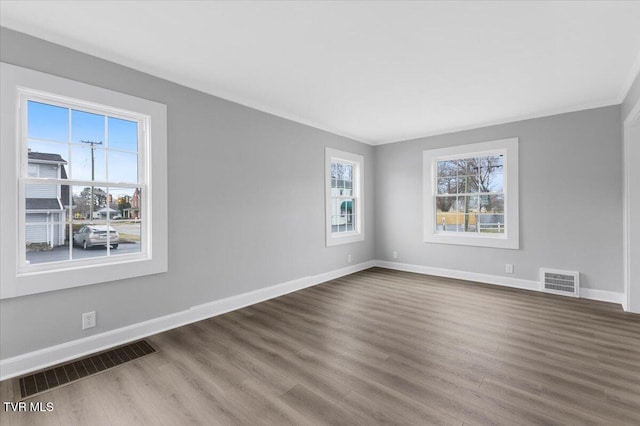
M 424 151 L 424 241 L 519 248 L 517 138 Z

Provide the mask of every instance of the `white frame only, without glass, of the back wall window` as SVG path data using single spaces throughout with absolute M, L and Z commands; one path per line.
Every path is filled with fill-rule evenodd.
M 442 160 L 504 155 L 504 234 L 480 232 L 442 232 L 436 226 L 437 164 Z M 424 242 L 493 247 L 520 248 L 518 214 L 518 138 L 500 139 L 469 145 L 431 149 L 423 153 L 423 218 Z

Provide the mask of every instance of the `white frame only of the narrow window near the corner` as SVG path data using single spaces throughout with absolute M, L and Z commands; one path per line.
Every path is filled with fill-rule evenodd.
M 353 197 L 356 226 L 351 232 L 331 229 L 331 163 L 338 161 L 353 166 Z M 351 152 L 325 148 L 325 230 L 327 247 L 364 241 L 364 157 Z

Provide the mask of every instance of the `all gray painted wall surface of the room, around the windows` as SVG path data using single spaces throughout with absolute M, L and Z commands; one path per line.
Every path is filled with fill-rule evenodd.
M 344 267 L 347 254 L 493 275 L 514 263 L 530 280 L 575 269 L 586 287 L 623 290 L 621 106 L 373 148 L 5 28 L 0 43 L 4 62 L 167 104 L 170 243 L 167 274 L 1 301 L 2 359 Z M 513 136 L 521 250 L 423 243 L 422 151 Z M 365 242 L 324 246 L 325 146 L 365 156 Z M 98 326 L 83 332 L 91 310 Z

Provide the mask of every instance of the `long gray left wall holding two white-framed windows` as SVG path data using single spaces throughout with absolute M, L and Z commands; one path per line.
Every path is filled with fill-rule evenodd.
M 373 259 L 373 147 L 6 28 L 0 40 L 4 62 L 167 105 L 170 243 L 166 274 L 1 301 L 0 358 Z M 325 146 L 365 157 L 364 242 L 325 247 Z

